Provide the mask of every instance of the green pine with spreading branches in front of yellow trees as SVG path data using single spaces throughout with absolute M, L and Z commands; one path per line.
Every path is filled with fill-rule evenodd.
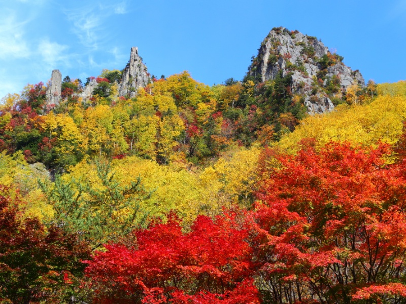
M 140 201 L 151 195 L 140 178 L 127 186 L 120 184 L 109 163 L 96 161 L 96 172 L 97 176 L 85 180 L 57 176 L 53 186 L 39 181 L 56 210 L 56 223 L 79 234 L 93 248 L 144 225 L 148 214 L 140 208 Z

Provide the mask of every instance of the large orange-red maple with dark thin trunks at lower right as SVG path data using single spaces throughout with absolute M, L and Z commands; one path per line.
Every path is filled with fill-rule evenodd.
M 378 148 L 330 142 L 274 155 L 255 216 L 259 281 L 272 302 L 351 302 L 404 295 L 405 163 Z M 288 291 L 288 292 L 286 292 Z

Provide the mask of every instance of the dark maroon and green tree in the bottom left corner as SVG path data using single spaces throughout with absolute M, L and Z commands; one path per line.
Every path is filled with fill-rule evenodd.
M 60 302 L 78 288 L 90 250 L 60 227 L 22 218 L 18 198 L 0 186 L 0 302 Z

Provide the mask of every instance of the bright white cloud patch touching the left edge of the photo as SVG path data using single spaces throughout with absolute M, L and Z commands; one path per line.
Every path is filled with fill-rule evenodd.
M 0 58 L 29 57 L 30 52 L 23 37 L 24 25 L 28 21 L 16 22 L 14 15 L 4 17 L 0 21 Z

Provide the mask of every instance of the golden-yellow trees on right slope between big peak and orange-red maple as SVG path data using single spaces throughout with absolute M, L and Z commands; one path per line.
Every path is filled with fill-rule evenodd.
M 275 145 L 294 153 L 303 138 L 315 138 L 317 147 L 331 140 L 395 144 L 402 133 L 405 113 L 406 98 L 401 96 L 378 96 L 369 104 L 340 105 L 330 113 L 305 118 Z

